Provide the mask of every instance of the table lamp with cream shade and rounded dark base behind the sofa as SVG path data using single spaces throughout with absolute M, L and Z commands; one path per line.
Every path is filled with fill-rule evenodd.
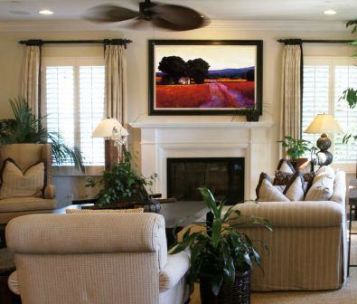
M 316 142 L 316 146 L 320 149 L 317 152 L 318 162 L 320 166 L 327 166 L 332 163 L 333 155 L 327 151 L 331 147 L 331 139 L 327 134 L 342 133 L 342 128 L 337 120 L 329 114 L 317 114 L 314 120 L 306 128 L 304 133 L 321 134 Z

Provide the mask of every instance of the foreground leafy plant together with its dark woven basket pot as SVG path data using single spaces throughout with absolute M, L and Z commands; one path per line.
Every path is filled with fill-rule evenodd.
M 209 189 L 201 187 L 199 191 L 210 210 L 206 225 L 199 232 L 188 229 L 170 253 L 190 249 L 189 282 L 200 283 L 202 304 L 250 303 L 251 269 L 260 265 L 260 255 L 237 227 L 253 224 L 271 230 L 270 224 L 261 218 L 243 217 L 233 207 L 225 211 L 224 203 L 216 202 Z

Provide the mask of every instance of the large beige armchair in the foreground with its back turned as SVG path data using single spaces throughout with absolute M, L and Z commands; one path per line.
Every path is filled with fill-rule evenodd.
M 185 252 L 167 254 L 165 221 L 154 213 L 34 214 L 11 220 L 23 304 L 184 304 Z

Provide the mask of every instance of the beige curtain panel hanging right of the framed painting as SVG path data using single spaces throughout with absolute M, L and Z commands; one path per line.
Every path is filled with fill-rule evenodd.
M 281 86 L 280 138 L 301 137 L 302 47 L 285 45 L 283 49 Z

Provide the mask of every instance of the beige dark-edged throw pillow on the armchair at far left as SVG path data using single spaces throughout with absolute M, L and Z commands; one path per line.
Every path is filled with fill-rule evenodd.
M 40 162 L 23 172 L 12 159 L 7 159 L 2 168 L 1 180 L 0 199 L 41 197 L 45 184 L 45 165 Z

